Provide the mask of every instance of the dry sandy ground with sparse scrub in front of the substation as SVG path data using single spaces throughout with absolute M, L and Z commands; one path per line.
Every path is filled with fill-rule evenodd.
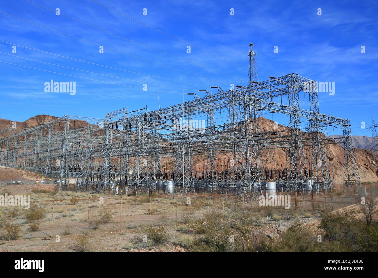
M 20 170 L 0 169 L 2 175 L 14 174 Z M 172 195 L 154 194 L 150 198 L 123 196 L 102 196 L 99 194 L 76 193 L 71 191 L 54 192 L 53 184 L 34 184 L 34 178 L 43 178 L 31 172 L 22 172 L 29 178 L 29 183 L 0 186 L 0 195 L 28 195 L 31 203 L 43 211 L 39 227 L 31 230 L 28 211 L 23 207 L 0 207 L 0 251 L 2 252 L 76 252 L 79 235 L 88 235 L 89 252 L 185 252 L 187 242 L 196 236 L 193 232 L 198 221 L 204 221 L 206 214 L 218 212 L 226 219 L 245 214 L 255 221 L 257 229 L 270 237 L 276 237 L 295 221 L 313 225 L 319 220 L 319 208 L 338 208 L 352 205 L 358 196 L 352 193 L 316 194 L 313 202 L 311 196 L 291 198 L 289 209 L 283 207 L 261 207 L 258 202 L 251 207 L 247 202 L 235 196 L 212 196 L 197 194 L 187 199 Z M 34 173 L 33 173 L 34 174 Z M 376 192 L 371 185 L 368 192 Z M 375 189 L 376 190 L 376 189 Z M 90 198 L 90 199 L 89 199 Z M 297 205 L 296 205 L 297 203 Z M 314 206 L 314 211 L 313 211 Z M 99 221 L 108 213 L 108 221 Z M 12 217 L 10 217 L 12 215 Z M 88 217 L 89 215 L 89 217 Z M 6 224 L 12 218 L 12 226 L 19 227 L 19 238 L 6 240 Z M 202 220 L 201 220 L 202 219 Z M 227 221 L 225 219 L 225 221 Z M 376 219 L 376 215 L 375 215 Z M 88 221 L 89 220 L 89 221 Z M 97 222 L 96 222 L 97 220 Z M 88 229 L 89 222 L 89 229 Z M 97 223 L 97 225 L 95 225 Z M 97 227 L 95 227 L 97 226 Z M 168 240 L 164 244 L 143 242 L 148 227 L 164 227 Z M 96 228 L 96 229 L 95 229 Z M 5 235 L 5 236 L 4 236 Z M 57 241 L 57 236 L 59 241 Z

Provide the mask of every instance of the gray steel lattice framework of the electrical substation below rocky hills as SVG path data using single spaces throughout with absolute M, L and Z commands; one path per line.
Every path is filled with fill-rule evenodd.
M 250 57 L 253 53 L 251 48 Z M 323 191 L 333 189 L 327 145 L 341 144 L 344 187 L 360 186 L 350 121 L 319 112 L 318 92 L 308 90 L 314 81 L 295 73 L 262 82 L 253 76 L 251 66 L 245 87 L 212 87 L 218 92 L 206 91 L 204 97 L 194 95 L 192 101 L 159 110 L 124 108 L 107 113 L 105 119 L 66 115 L 25 130 L 1 130 L 0 164 L 56 177 L 59 190 L 68 189 L 74 178 L 77 191 L 114 192 L 120 186 L 127 194 L 139 195 L 149 193 L 158 180 L 173 180 L 177 194 L 233 192 L 252 202 L 262 193 L 265 179 L 273 178 L 264 152 L 286 150 L 287 170 L 275 177 L 277 189 L 304 196 L 310 179 Z M 308 96 L 310 110 L 300 107 L 300 93 Z M 257 119 L 260 111 L 287 115 L 290 125 L 263 131 Z M 304 121 L 307 132 L 302 131 Z M 321 130 L 329 125 L 341 126 L 344 136 L 326 139 Z M 305 148 L 311 149 L 309 162 Z M 215 167 L 217 155 L 229 157 L 222 171 Z M 195 170 L 200 161 L 206 161 L 202 173 Z

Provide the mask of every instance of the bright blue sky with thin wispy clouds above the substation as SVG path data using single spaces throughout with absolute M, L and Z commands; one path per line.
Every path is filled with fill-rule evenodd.
M 378 121 L 375 1 L 98 0 L 125 16 L 92 0 L 31 2 L 3 0 L 0 6 L 0 118 L 104 118 L 123 107 L 158 109 L 157 91 L 160 106 L 166 107 L 182 102 L 183 90 L 187 101 L 193 96 L 186 93 L 210 90 L 212 82 L 224 90 L 240 84 L 240 78 L 246 85 L 248 44 L 253 42 L 260 81 L 297 73 L 335 82 L 335 95 L 319 93 L 322 113 L 349 118 L 354 135 L 371 136 L 361 122 Z M 17 53 L 12 53 L 14 45 Z M 46 93 L 44 83 L 51 79 L 76 82 L 76 95 Z

